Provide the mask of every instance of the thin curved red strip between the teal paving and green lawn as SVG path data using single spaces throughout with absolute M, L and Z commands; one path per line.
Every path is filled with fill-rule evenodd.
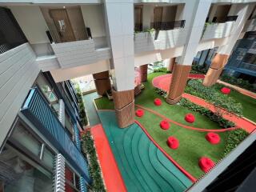
M 182 166 L 178 165 L 178 162 L 176 162 L 173 158 L 171 158 L 170 155 L 167 154 L 166 151 L 163 150 L 162 147 L 159 146 L 158 143 L 154 141 L 154 138 L 152 138 L 152 137 L 150 136 L 150 134 L 147 132 L 146 128 L 145 128 L 144 126 L 142 126 L 142 124 L 141 124 L 140 122 L 138 122 L 137 120 L 135 120 L 135 122 L 138 124 L 138 126 L 140 126 L 140 127 L 142 128 L 142 130 L 144 131 L 144 133 L 146 134 L 146 136 L 147 136 L 148 138 L 150 138 L 151 142 L 153 142 L 154 145 L 157 146 L 158 149 L 161 150 L 162 153 L 166 155 L 166 158 L 168 158 L 172 163 L 174 163 L 174 166 L 177 166 L 178 169 L 181 170 L 182 173 L 185 174 L 186 177 L 188 177 L 188 178 L 191 180 L 191 182 L 196 182 L 196 181 L 197 181 L 196 178 L 194 178 L 194 177 L 193 177 L 189 172 L 187 172 Z

